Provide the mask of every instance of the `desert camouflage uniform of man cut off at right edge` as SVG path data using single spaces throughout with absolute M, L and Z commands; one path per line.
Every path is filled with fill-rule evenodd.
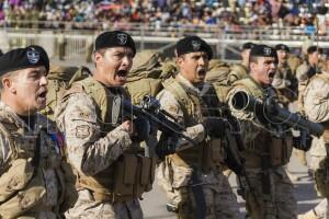
M 320 76 L 316 74 L 307 84 L 304 93 L 304 108 L 308 119 L 316 123 L 328 123 L 329 120 L 329 77 L 327 72 Z M 327 130 L 327 128 L 326 128 Z M 319 168 L 319 162 L 327 157 L 325 138 L 314 138 L 310 149 L 310 168 L 316 171 Z M 328 199 L 328 197 L 327 197 Z M 316 214 L 321 218 L 327 214 L 326 218 L 329 218 L 328 205 L 326 201 L 321 201 Z M 326 208 L 326 209 L 324 209 Z M 325 218 L 325 217 L 322 217 Z

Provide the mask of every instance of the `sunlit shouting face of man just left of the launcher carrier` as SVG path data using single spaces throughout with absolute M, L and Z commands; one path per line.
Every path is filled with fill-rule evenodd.
M 205 51 L 189 53 L 177 57 L 180 74 L 192 84 L 204 82 L 208 70 L 209 59 Z

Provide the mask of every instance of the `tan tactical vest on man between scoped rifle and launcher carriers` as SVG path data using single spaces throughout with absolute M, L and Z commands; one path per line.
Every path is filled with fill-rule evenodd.
M 184 126 L 191 127 L 203 122 L 204 116 L 208 116 L 205 104 L 200 96 L 189 92 L 177 79 L 167 80 L 163 83 L 166 90 L 175 96 L 183 112 Z M 214 90 L 208 93 L 216 96 Z M 177 165 L 196 168 L 207 172 L 223 164 L 223 148 L 220 139 L 205 139 L 201 146 L 191 147 L 174 154 L 169 155 Z

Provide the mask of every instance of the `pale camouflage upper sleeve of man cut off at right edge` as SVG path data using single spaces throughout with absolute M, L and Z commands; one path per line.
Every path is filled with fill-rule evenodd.
M 315 123 L 329 120 L 329 84 L 320 79 L 311 80 L 305 91 L 304 108 Z

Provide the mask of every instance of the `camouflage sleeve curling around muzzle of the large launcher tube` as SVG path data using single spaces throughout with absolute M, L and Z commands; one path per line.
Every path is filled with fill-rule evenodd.
M 231 115 L 239 119 L 241 135 L 242 135 L 245 142 L 247 143 L 247 142 L 253 140 L 260 134 L 261 127 L 254 123 L 256 117 L 254 117 L 253 113 L 246 112 L 246 111 L 237 111 L 232 107 L 231 97 L 238 91 L 245 91 L 248 93 L 248 91 L 245 90 L 243 88 L 235 87 L 227 94 L 227 101 L 228 101 L 228 106 L 231 111 Z

